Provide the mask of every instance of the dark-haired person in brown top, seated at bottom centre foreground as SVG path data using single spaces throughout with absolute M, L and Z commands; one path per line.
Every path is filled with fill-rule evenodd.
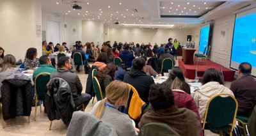
M 139 128 L 148 123 L 165 123 L 180 136 L 198 136 L 202 131 L 196 114 L 175 106 L 173 91 L 166 84 L 150 87 L 148 100 L 153 110 L 141 117 Z

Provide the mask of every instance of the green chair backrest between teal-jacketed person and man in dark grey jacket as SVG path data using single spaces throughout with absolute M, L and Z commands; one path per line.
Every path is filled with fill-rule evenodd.
M 50 74 L 47 72 L 39 73 L 35 77 L 35 92 L 38 100 L 44 100 L 46 85 L 50 80 Z

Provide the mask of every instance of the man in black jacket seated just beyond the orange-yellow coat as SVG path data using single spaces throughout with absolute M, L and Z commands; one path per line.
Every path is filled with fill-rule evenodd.
M 138 91 L 141 100 L 148 103 L 148 91 L 154 84 L 154 79 L 148 76 L 145 71 L 146 61 L 137 57 L 132 61 L 132 69 L 124 76 L 124 82 L 131 84 Z

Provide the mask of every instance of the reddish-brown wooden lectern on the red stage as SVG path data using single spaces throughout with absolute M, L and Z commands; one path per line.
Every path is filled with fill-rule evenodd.
M 194 64 L 194 53 L 196 49 L 182 48 L 182 61 L 184 64 Z

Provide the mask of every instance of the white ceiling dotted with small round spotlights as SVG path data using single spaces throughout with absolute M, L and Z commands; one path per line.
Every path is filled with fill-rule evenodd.
M 72 2 L 71 0 L 64 1 L 65 3 Z M 246 3 L 246 1 L 252 0 L 228 1 L 224 4 L 221 3 L 225 1 L 220 0 L 78 0 L 77 4 L 82 6 L 83 9 L 73 10 L 71 4 L 64 4 L 62 0 L 42 0 L 42 8 L 43 11 L 61 13 L 62 15 L 81 20 L 102 20 L 106 25 L 113 25 L 118 21 L 121 24 L 174 24 L 174 28 L 192 28 L 200 26 L 202 22 L 207 20 L 207 15 L 209 14 L 207 11 L 211 11 L 209 15 L 212 17 L 220 17 L 220 14 L 212 15 L 214 10 L 216 10 L 216 6 L 221 4 L 221 6 L 218 6 L 218 8 L 221 7 L 218 11 L 226 11 L 228 13 L 236 10 L 233 7 L 236 7 L 237 4 Z M 239 8 L 239 6 L 236 8 Z M 134 9 L 138 10 L 138 12 Z M 204 13 L 206 15 L 203 15 Z M 203 16 L 194 19 L 186 17 L 161 18 L 161 15 L 179 16 L 179 14 L 181 16 Z

